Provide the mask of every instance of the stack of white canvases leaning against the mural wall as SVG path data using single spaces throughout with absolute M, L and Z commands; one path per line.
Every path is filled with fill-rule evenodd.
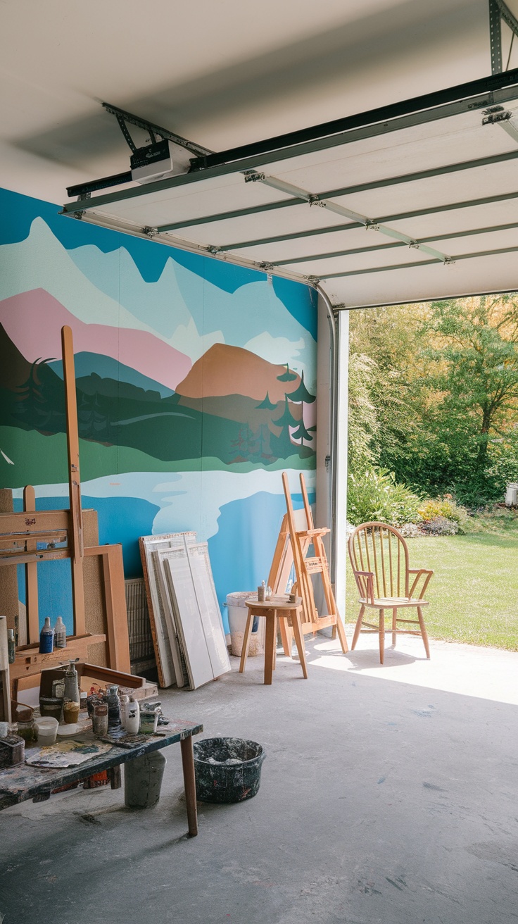
M 196 538 L 139 540 L 161 687 L 196 689 L 230 671 L 208 545 Z

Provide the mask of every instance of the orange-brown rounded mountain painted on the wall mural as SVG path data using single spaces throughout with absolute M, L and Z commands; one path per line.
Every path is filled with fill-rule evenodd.
M 272 404 L 277 404 L 300 383 L 295 373 L 291 382 L 279 382 L 278 377 L 285 372 L 285 366 L 274 366 L 241 346 L 214 344 L 175 390 L 187 398 L 247 395 L 255 401 L 262 401 L 268 393 Z

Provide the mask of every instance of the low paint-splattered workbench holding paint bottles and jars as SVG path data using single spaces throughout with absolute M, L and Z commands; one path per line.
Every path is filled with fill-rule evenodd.
M 194 775 L 194 758 L 192 736 L 199 735 L 203 725 L 199 723 L 184 722 L 182 719 L 171 720 L 161 728 L 161 736 L 139 736 L 135 744 L 126 742 L 126 747 L 112 745 L 109 750 L 98 754 L 90 760 L 75 767 L 43 768 L 30 767 L 20 763 L 15 767 L 8 767 L 0 771 L 0 809 L 32 799 L 42 802 L 51 796 L 51 793 L 62 786 L 84 780 L 94 773 L 107 771 L 113 789 L 121 785 L 120 767 L 128 760 L 142 758 L 153 751 L 168 748 L 169 745 L 180 742 L 182 749 L 182 767 L 184 771 L 184 785 L 187 801 L 188 832 L 191 836 L 198 834 L 198 812 L 196 807 L 196 783 Z M 81 740 L 88 742 L 99 739 L 89 732 L 78 735 Z M 107 741 L 107 739 L 104 739 Z M 26 750 L 26 758 L 30 756 L 30 748 Z

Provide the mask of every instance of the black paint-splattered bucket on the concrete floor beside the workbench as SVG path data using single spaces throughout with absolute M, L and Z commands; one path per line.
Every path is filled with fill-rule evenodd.
M 194 745 L 200 802 L 243 802 L 259 790 L 265 759 L 261 745 L 243 738 L 205 738 Z

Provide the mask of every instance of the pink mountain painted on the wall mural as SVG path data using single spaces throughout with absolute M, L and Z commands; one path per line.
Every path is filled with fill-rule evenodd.
M 147 331 L 79 321 L 42 288 L 0 301 L 0 322 L 30 362 L 61 359 L 61 328 L 69 324 L 75 353 L 112 357 L 167 388 L 175 390 L 192 365 L 184 353 Z

